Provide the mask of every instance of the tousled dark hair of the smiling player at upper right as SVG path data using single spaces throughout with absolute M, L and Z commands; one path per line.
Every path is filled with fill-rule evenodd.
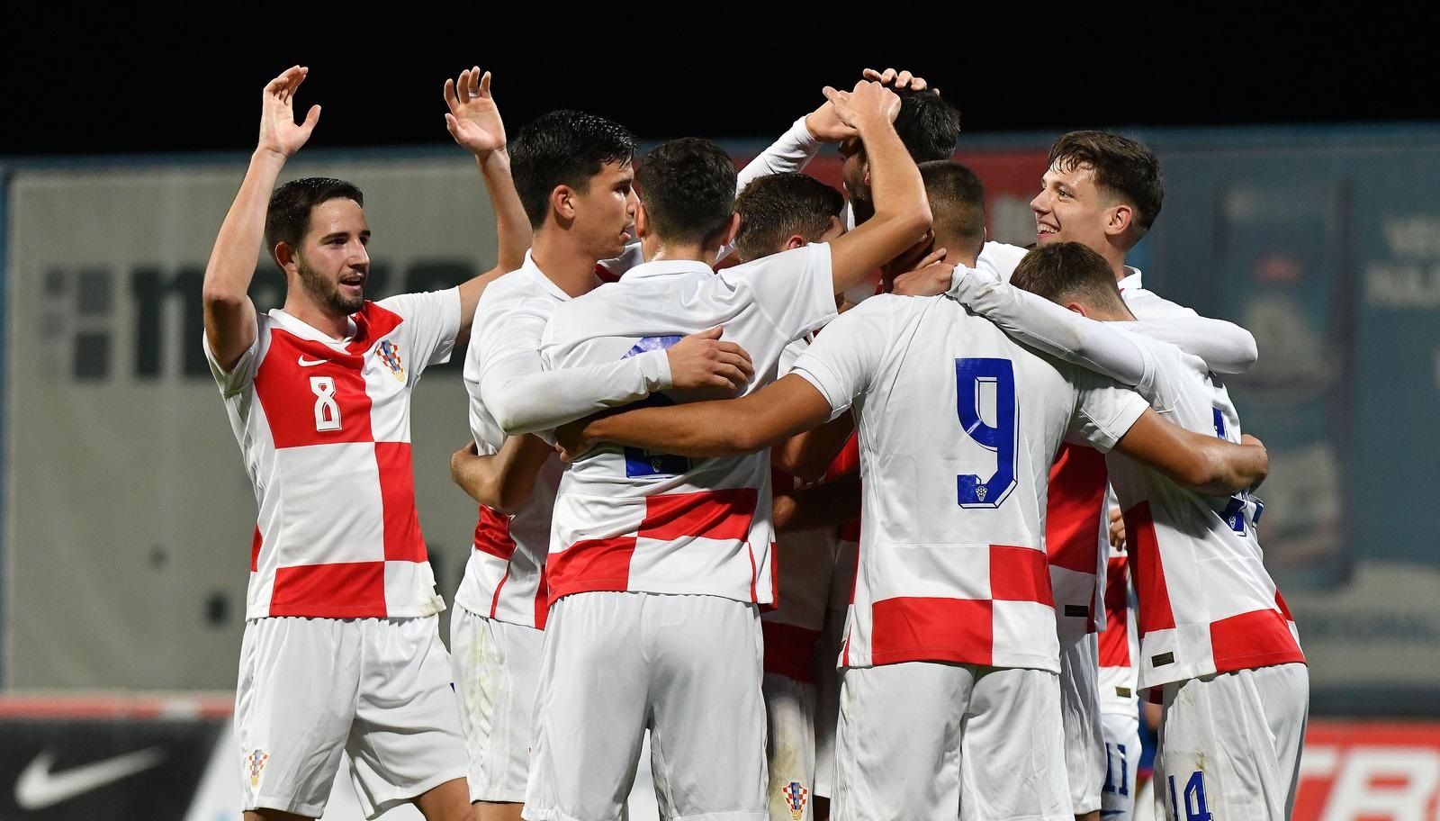
M 1047 167 L 1056 163 L 1066 171 L 1086 166 L 1094 169 L 1096 187 L 1135 209 L 1133 225 L 1138 230 L 1130 233 L 1126 251 L 1145 236 L 1161 215 L 1165 200 L 1161 161 L 1143 143 L 1109 131 L 1071 131 L 1050 145 Z

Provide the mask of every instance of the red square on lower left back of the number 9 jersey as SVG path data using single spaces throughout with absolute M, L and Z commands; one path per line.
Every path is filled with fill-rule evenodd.
M 988 665 L 995 652 L 994 606 L 988 601 L 901 596 L 876 602 L 870 614 L 870 658 L 876 664 Z

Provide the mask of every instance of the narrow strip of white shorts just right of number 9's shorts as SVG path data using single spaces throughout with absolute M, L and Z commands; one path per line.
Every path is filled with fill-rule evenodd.
M 1100 808 L 1104 740 L 1100 727 L 1100 645 L 1093 632 L 1060 641 L 1060 722 L 1066 729 L 1066 775 L 1076 815 Z

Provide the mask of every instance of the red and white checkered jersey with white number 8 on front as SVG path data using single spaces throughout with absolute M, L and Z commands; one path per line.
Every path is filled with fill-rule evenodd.
M 245 618 L 445 609 L 415 513 L 410 390 L 449 357 L 459 291 L 364 302 L 344 340 L 278 308 L 256 320 L 228 373 L 204 340 L 259 501 Z

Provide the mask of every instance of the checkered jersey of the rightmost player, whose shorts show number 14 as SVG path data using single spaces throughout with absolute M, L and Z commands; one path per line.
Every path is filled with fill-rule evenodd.
M 1201 359 L 1129 333 L 1129 323 L 1110 326 L 1151 360 L 1151 385 L 1136 389 L 1156 410 L 1191 431 L 1240 441 L 1234 405 Z M 1200 495 L 1132 459 L 1107 461 L 1139 601 L 1140 687 L 1303 663 L 1295 622 L 1264 567 L 1259 500 Z

